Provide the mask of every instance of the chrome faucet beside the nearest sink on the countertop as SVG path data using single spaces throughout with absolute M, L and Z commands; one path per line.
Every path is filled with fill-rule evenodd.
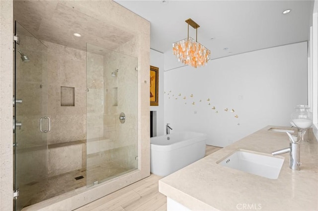
M 279 154 L 284 154 L 289 152 L 290 153 L 290 158 L 289 158 L 289 168 L 293 170 L 300 170 L 300 165 L 302 164 L 300 162 L 300 137 L 297 137 L 297 140 L 295 141 L 293 137 L 286 132 L 290 143 L 288 148 L 280 149 L 277 151 L 273 151 L 272 155 L 279 155 Z

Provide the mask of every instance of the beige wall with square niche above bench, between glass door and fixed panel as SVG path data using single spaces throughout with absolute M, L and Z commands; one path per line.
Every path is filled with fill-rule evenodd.
M 86 52 L 44 42 L 48 46 L 49 144 L 86 139 Z M 61 106 L 61 86 L 75 88 L 75 106 Z

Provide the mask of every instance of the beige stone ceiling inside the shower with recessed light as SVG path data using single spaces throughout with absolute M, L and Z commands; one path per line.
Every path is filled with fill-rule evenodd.
M 13 15 L 37 39 L 83 51 L 89 43 L 87 50 L 97 54 L 108 52 L 98 46 L 114 50 L 135 36 L 70 0 L 14 0 Z M 23 27 L 18 34 L 25 33 Z

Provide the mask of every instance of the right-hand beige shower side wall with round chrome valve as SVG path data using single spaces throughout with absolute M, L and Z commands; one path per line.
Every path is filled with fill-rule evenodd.
M 135 40 L 126 43 L 135 49 Z M 113 141 L 111 156 L 124 168 L 137 168 L 137 121 L 138 121 L 138 71 L 137 58 L 112 52 L 105 56 L 106 103 L 104 115 L 104 135 Z M 111 72 L 118 70 L 117 75 Z M 121 124 L 119 114 L 123 112 L 126 121 Z

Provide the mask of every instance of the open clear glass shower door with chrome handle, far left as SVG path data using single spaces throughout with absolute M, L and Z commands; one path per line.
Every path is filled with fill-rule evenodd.
M 14 200 L 16 211 L 44 191 L 47 179 L 47 47 L 15 22 L 14 43 Z

